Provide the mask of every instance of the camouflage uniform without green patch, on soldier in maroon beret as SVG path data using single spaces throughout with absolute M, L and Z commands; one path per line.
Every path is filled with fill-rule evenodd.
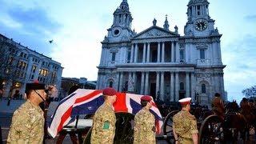
M 150 110 L 142 108 L 134 118 L 134 144 L 155 144 L 155 119 Z

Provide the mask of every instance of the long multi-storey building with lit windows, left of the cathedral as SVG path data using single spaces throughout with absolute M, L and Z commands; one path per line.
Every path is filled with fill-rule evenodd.
M 43 54 L 22 46 L 13 39 L 0 34 L 0 84 L 3 97 L 13 96 L 14 91 L 24 95 L 26 83 L 38 80 L 46 85 L 55 85 L 59 90 L 62 82 L 61 63 Z

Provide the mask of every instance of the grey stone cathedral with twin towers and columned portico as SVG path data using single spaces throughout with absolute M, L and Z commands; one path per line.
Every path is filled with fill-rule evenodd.
M 97 89 L 150 94 L 177 102 L 192 97 L 209 105 L 214 93 L 224 96 L 222 54 L 218 29 L 210 18 L 207 0 L 190 0 L 184 35 L 171 31 L 166 16 L 163 27 L 136 33 L 127 0 L 114 11 L 113 25 L 102 42 Z

